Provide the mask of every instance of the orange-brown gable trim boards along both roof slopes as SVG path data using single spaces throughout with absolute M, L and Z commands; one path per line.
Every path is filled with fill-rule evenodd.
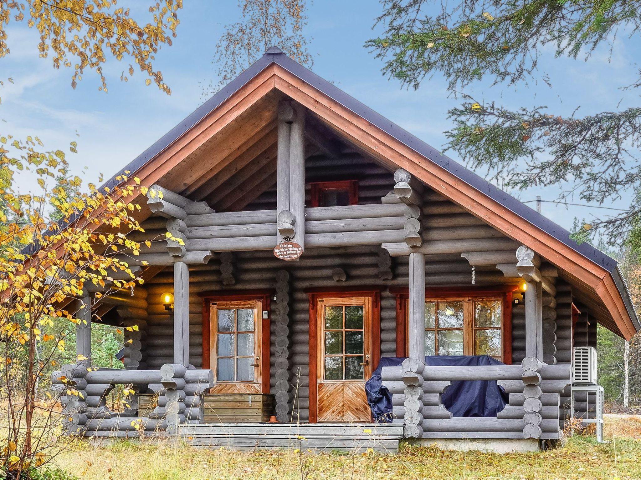
M 599 295 L 623 337 L 630 339 L 634 335 L 636 331 L 628 310 L 609 271 L 273 63 L 247 81 L 169 147 L 138 168 L 135 175 L 143 185 L 151 186 L 273 88 L 306 106 L 324 123 L 329 124 L 329 127 L 348 136 L 353 143 L 379 161 L 392 168 L 404 168 L 437 193 L 493 225 L 506 236 L 529 246 L 566 271 L 573 281 Z M 129 177 L 133 178 L 133 174 Z M 129 180 L 129 183 L 133 183 L 133 180 Z

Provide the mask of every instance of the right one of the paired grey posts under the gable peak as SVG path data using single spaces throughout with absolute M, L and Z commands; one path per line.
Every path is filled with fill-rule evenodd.
M 305 250 L 305 108 L 294 105 L 296 118 L 290 129 L 290 212 L 294 216 L 294 241 Z

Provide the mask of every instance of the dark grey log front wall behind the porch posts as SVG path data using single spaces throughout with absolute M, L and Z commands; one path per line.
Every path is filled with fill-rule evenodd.
M 324 161 L 326 162 L 326 161 Z M 313 161 L 308 162 L 308 172 L 312 171 Z M 363 170 L 358 170 L 362 166 Z M 391 173 L 379 172 L 380 168 L 370 168 L 369 164 L 357 165 L 360 175 L 365 175 L 359 185 L 359 203 L 374 204 L 381 202 L 381 196 L 387 195 L 394 184 Z M 355 167 L 337 167 L 335 177 L 322 180 L 340 180 L 354 175 Z M 310 170 L 312 169 L 312 170 Z M 351 170 L 350 170 L 351 169 Z M 320 170 L 319 170 L 320 171 Z M 327 170 L 325 170 L 327 172 Z M 320 178 L 319 178 L 320 179 Z M 370 190 L 371 189 L 371 190 Z M 267 198 L 263 194 L 263 198 Z M 463 246 L 481 244 L 483 250 L 492 252 L 497 239 L 504 237 L 463 211 L 461 207 L 447 202 L 433 191 L 426 191 L 422 205 L 421 225 L 428 241 L 438 244 L 437 253 L 427 253 L 426 285 L 430 286 L 472 286 L 472 267 L 463 258 Z M 393 199 L 390 200 L 393 202 Z M 275 196 L 274 196 L 275 202 Z M 274 205 L 253 204 L 248 209 L 257 209 L 260 205 L 272 208 Z M 260 208 L 263 208 L 260 207 Z M 367 221 L 367 220 L 365 220 Z M 153 223 L 153 219 L 149 220 Z M 480 228 L 479 228 L 480 227 Z M 494 250 L 502 250 L 502 247 Z M 514 261 L 516 261 L 515 257 Z M 221 263 L 222 259 L 222 263 Z M 340 269 L 340 272 L 338 271 Z M 288 273 L 287 287 L 279 279 L 278 272 Z M 340 275 L 339 275 L 340 274 Z M 281 278 L 284 278 L 280 274 Z M 233 281 L 230 278 L 233 277 Z M 162 305 L 163 292 L 172 292 L 172 270 L 165 268 L 146 284 L 148 339 L 146 362 L 149 368 L 172 362 L 173 320 L 171 314 Z M 272 301 L 271 316 L 271 392 L 279 397 L 279 415 L 293 415 L 294 419 L 309 419 L 309 297 L 305 289 L 326 288 L 344 289 L 354 287 L 376 287 L 381 289 L 381 356 L 396 355 L 396 300 L 388 287 L 408 287 L 409 263 L 406 255 L 390 257 L 380 246 L 353 246 L 339 248 L 306 248 L 303 257 L 295 262 L 283 262 L 276 259 L 271 250 L 235 252 L 233 259 L 228 255 L 217 255 L 207 265 L 189 266 L 189 362 L 196 368 L 202 366 L 202 318 L 203 303 L 199 292 L 228 291 L 246 289 L 280 289 L 281 295 L 287 295 L 287 328 L 283 324 L 283 308 L 279 302 Z M 514 283 L 514 278 L 506 278 L 495 265 L 476 266 L 476 287 L 499 285 L 505 282 Z M 280 287 L 278 287 L 280 285 Z M 278 287 L 278 288 L 277 288 Z M 283 297 L 284 298 L 284 297 Z M 515 318 L 521 314 L 515 308 Z M 279 318 L 279 321 L 276 321 Z M 513 342 L 519 339 L 521 324 L 515 325 Z M 524 329 L 524 323 L 521 330 Z M 285 338 L 283 338 L 285 335 Z M 278 340 L 277 340 L 278 339 Z M 276 342 L 278 341 L 278 344 Z M 523 350 L 523 348 L 520 348 Z M 519 349 L 517 358 L 520 362 Z M 524 355 L 524 352 L 523 352 Z M 522 357 L 521 357 L 522 358 Z M 278 362 L 278 365 L 277 365 Z M 287 365 L 288 372 L 282 366 Z M 291 384 L 289 391 L 283 388 L 285 378 Z M 279 383 L 279 381 L 281 383 Z M 288 410 L 282 401 L 287 396 Z

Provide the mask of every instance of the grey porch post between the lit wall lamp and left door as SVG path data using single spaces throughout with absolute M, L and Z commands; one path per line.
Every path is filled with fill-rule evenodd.
M 174 364 L 189 366 L 189 269 L 174 263 Z

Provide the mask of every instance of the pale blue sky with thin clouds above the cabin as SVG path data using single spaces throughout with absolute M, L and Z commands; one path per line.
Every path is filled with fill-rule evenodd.
M 135 4 L 146 3 L 136 0 Z M 458 100 L 448 95 L 447 82 L 440 76 L 424 81 L 414 91 L 402 90 L 397 81 L 381 75 L 381 61 L 363 47 L 375 35 L 373 19 L 380 13 L 381 5 L 375 0 L 315 0 L 308 8 L 306 28 L 311 37 L 312 69 L 430 145 L 442 147 L 444 131 L 451 127 L 447 110 Z M 224 25 L 237 20 L 238 14 L 235 0 L 185 2 L 179 12 L 178 38 L 172 47 L 158 53 L 155 63 L 172 89 L 171 96 L 154 86 L 145 86 L 140 74 L 128 83 L 121 82 L 121 72 L 128 63 L 115 60 L 104 67 L 107 94 L 97 90 L 99 79 L 94 72 L 85 72 L 76 90 L 72 90 L 72 71 L 54 70 L 50 59 L 38 58 L 37 31 L 27 28 L 26 23 L 11 26 L 11 53 L 0 59 L 0 78 L 12 77 L 14 84 L 5 83 L 0 88 L 0 134 L 38 135 L 51 149 L 68 150 L 71 141 L 78 141 L 78 154 L 69 156 L 74 171 L 92 182 L 97 181 L 99 173 L 111 177 L 204 101 L 201 85 L 216 83 L 212 65 L 215 44 Z M 141 22 L 148 18 L 144 10 L 133 16 Z M 612 58 L 609 49 L 603 47 L 587 63 L 555 60 L 553 48 L 545 47 L 539 70 L 549 74 L 552 88 L 534 78 L 528 85 L 503 88 L 503 92 L 503 86 L 490 88 L 487 84 L 477 84 L 467 92 L 477 99 L 495 100 L 512 108 L 546 105 L 563 116 L 577 106 L 583 115 L 612 110 L 617 104 L 618 108 L 636 106 L 637 93 L 620 87 L 636 78 L 635 52 L 639 47 L 638 42 L 619 35 Z M 453 152 L 449 155 L 460 161 Z M 22 188 L 29 188 L 24 181 Z M 559 191 L 554 187 L 510 193 L 521 200 L 533 200 L 537 195 L 554 200 Z M 623 195 L 622 200 L 605 206 L 626 206 L 629 194 Z M 607 212 L 542 205 L 542 213 L 565 228 L 572 226 L 574 217 L 589 220 Z

